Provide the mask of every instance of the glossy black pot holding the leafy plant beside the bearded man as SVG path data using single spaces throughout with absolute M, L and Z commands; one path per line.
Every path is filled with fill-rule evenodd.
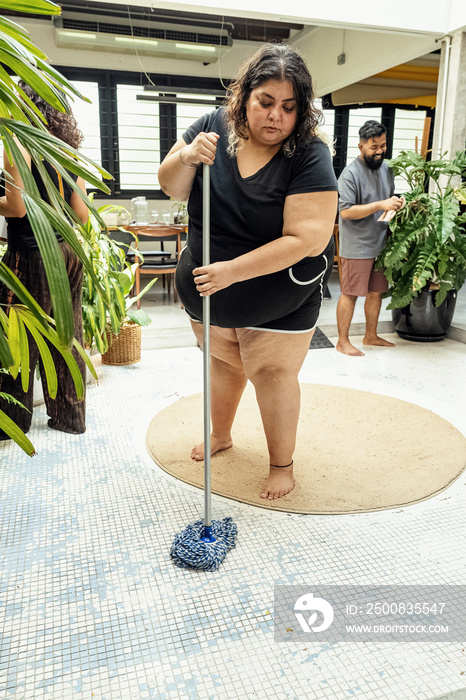
M 436 290 L 423 289 L 409 306 L 392 310 L 395 330 L 400 338 L 418 343 L 432 343 L 445 338 L 453 319 L 457 292 L 455 289 L 447 292 L 440 306 L 435 306 L 436 294 Z

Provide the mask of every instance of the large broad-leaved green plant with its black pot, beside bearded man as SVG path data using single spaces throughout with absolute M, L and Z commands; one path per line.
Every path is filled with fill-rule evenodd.
M 389 161 L 408 183 L 406 205 L 390 221 L 376 266 L 385 271 L 395 329 L 402 338 L 442 340 L 466 280 L 466 151 L 448 160 L 425 160 L 402 151 Z

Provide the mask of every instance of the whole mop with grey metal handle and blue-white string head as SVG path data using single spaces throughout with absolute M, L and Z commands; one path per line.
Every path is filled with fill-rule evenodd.
M 210 263 L 210 170 L 203 165 L 202 264 Z M 210 297 L 202 300 L 204 323 L 204 503 L 205 518 L 175 535 L 170 549 L 173 563 L 182 569 L 216 571 L 228 550 L 236 546 L 238 528 L 231 518 L 212 520 L 210 479 Z

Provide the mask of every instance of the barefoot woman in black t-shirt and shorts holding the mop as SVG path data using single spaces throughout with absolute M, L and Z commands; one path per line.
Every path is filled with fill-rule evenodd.
M 260 496 L 294 486 L 298 373 L 333 265 L 337 182 L 319 134 L 312 78 L 285 44 L 262 46 L 231 83 L 225 107 L 201 117 L 159 169 L 166 194 L 188 200 L 176 285 L 199 344 L 211 296 L 212 454 L 249 379 L 269 451 Z M 202 266 L 202 163 L 211 166 L 211 264 Z M 203 444 L 192 459 L 204 458 Z

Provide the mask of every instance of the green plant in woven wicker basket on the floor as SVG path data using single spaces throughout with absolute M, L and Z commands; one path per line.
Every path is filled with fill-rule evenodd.
M 102 218 L 109 213 L 121 215 L 125 212 L 122 207 L 114 205 L 100 207 L 97 211 Z M 154 278 L 138 296 L 130 296 L 139 263 L 131 264 L 127 253 L 135 252 L 131 245 L 135 236 L 124 229 L 119 230 L 127 242 L 112 240 L 92 214 L 82 230 L 82 246 L 109 300 L 102 298 L 92 276 L 85 273 L 82 296 L 84 342 L 88 348 L 96 348 L 102 354 L 104 364 L 132 364 L 141 359 L 141 326 L 147 326 L 151 321 L 143 309 L 132 307 L 156 282 Z

